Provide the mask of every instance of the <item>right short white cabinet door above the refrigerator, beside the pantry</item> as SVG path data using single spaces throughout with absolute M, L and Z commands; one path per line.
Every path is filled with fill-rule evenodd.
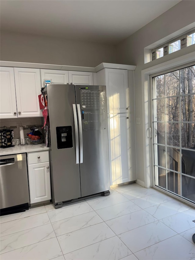
M 93 73 L 85 71 L 69 71 L 69 83 L 75 85 L 93 85 Z

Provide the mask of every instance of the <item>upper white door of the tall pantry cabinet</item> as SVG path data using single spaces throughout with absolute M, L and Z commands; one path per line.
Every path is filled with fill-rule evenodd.
M 128 72 L 126 69 L 105 69 L 108 113 L 126 113 L 128 104 Z

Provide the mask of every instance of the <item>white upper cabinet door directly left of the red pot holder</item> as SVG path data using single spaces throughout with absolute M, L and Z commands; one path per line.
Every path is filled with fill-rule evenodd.
M 42 116 L 40 69 L 14 68 L 18 118 Z

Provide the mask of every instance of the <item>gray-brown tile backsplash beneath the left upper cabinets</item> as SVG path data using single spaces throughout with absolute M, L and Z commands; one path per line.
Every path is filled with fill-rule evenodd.
M 39 125 L 43 126 L 42 117 L 28 117 L 28 118 L 10 118 L 0 119 L 0 129 L 4 126 L 8 129 L 13 129 L 14 139 L 19 138 L 19 127 L 24 127 L 24 137 L 27 137 L 27 133 L 31 132 L 29 126 Z

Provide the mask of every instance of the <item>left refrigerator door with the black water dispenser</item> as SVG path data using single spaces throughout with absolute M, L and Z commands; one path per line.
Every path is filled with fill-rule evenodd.
M 47 87 L 54 202 L 80 198 L 79 139 L 74 85 Z

